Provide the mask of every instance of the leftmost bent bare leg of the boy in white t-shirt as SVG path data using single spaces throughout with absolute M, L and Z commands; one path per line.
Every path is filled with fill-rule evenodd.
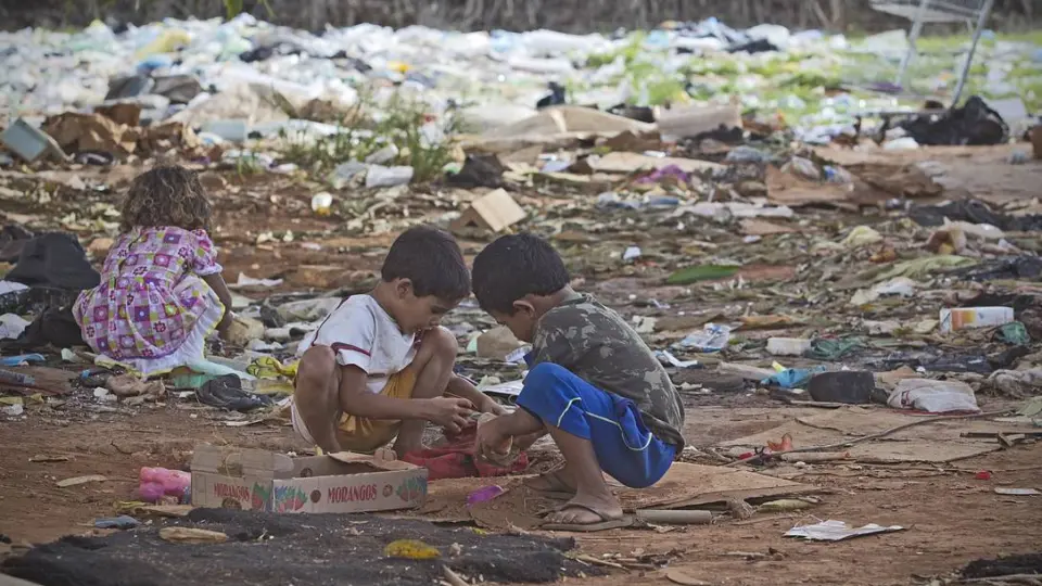
M 332 348 L 314 346 L 301 357 L 293 402 L 318 447 L 330 454 L 340 451 L 340 365 Z

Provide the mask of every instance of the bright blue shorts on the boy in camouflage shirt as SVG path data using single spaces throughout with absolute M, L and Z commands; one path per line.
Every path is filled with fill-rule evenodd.
M 529 371 L 518 407 L 547 425 L 589 440 L 600 469 L 631 488 L 659 482 L 676 455 L 674 446 L 648 431 L 636 404 L 555 364 Z

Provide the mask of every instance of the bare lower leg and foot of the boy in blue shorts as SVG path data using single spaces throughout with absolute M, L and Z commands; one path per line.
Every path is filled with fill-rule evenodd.
M 546 429 L 564 456 L 564 468 L 571 475 L 569 480 L 575 482 L 575 496 L 561 510 L 547 517 L 547 521 L 583 525 L 621 518 L 622 505 L 608 488 L 589 440 L 583 440 L 552 425 L 547 425 Z

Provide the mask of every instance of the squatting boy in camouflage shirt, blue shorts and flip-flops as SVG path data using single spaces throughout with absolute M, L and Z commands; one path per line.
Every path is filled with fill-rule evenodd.
M 501 454 L 511 437 L 528 447 L 548 433 L 564 467 L 528 485 L 571 498 L 544 527 L 628 524 L 602 472 L 651 486 L 684 448 L 684 407 L 665 369 L 618 314 L 569 286 L 561 257 L 535 235 L 490 244 L 472 278 L 482 309 L 533 345 L 520 408 L 478 429 L 479 454 Z

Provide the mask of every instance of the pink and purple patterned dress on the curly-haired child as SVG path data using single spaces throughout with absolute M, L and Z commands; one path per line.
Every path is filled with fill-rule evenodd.
M 103 361 L 164 374 L 203 359 L 225 307 L 201 277 L 220 270 L 203 230 L 135 228 L 113 244 L 101 284 L 80 293 L 73 315 Z

